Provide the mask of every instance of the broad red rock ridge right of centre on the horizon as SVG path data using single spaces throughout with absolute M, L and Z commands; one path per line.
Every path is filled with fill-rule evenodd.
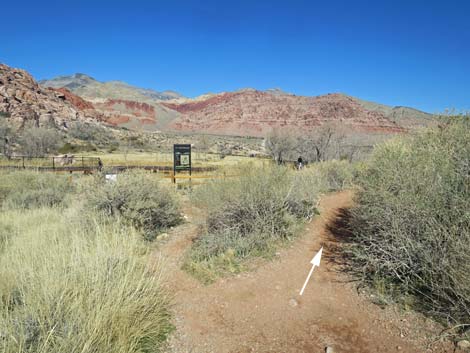
M 305 131 L 336 124 L 361 132 L 396 133 L 405 129 L 357 100 L 328 94 L 302 97 L 256 90 L 223 93 L 184 103 L 161 103 L 181 116 L 169 128 L 213 134 L 265 136 L 273 128 Z

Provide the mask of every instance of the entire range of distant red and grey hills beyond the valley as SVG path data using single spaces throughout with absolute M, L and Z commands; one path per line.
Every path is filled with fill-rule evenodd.
M 428 126 L 434 119 L 413 108 L 391 107 L 339 93 L 307 97 L 279 88 L 244 88 L 186 98 L 176 92 L 156 92 L 120 81 L 99 82 L 85 74 L 40 83 L 68 89 L 92 102 L 110 124 L 147 131 L 261 137 L 273 128 L 308 131 L 335 124 L 351 134 L 390 134 Z

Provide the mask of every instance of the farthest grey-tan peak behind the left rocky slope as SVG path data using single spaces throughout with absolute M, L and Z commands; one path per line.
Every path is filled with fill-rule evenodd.
M 59 76 L 39 81 L 44 87 L 67 88 L 85 99 L 125 99 L 130 101 L 152 101 L 182 98 L 174 91 L 157 92 L 152 89 L 131 86 L 121 81 L 100 82 L 85 74 Z

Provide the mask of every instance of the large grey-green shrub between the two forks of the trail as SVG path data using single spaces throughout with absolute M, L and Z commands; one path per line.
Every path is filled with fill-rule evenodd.
M 237 173 L 239 178 L 216 180 L 195 191 L 194 202 L 207 215 L 189 256 L 192 270 L 200 262 L 212 266 L 224 256 L 237 260 L 269 252 L 316 212 L 319 195 L 315 188 L 304 188 L 299 173 L 280 166 Z

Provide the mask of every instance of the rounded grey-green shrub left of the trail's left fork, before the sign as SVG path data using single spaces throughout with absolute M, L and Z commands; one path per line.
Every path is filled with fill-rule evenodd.
M 174 195 L 149 174 L 128 172 L 117 181 L 96 179 L 88 192 L 89 208 L 119 216 L 153 240 L 159 231 L 182 220 Z

